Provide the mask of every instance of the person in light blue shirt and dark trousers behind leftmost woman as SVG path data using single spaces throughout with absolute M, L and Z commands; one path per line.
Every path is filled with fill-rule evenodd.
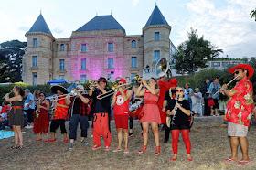
M 30 90 L 25 90 L 27 98 L 25 101 L 24 110 L 27 112 L 27 128 L 33 128 L 34 123 L 34 110 L 35 110 L 35 99 Z

